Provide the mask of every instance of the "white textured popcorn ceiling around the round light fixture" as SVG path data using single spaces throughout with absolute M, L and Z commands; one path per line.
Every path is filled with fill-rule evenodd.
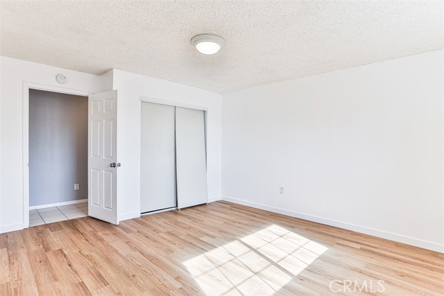
M 1 1 L 0 54 L 224 93 L 443 48 L 443 1 Z M 202 55 L 191 37 L 226 44 Z

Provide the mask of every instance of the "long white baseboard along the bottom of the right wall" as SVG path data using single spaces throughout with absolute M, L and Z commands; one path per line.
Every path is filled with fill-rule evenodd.
M 401 234 L 393 234 L 391 232 L 385 232 L 384 230 L 373 229 L 370 227 L 364 227 L 361 225 L 355 225 L 351 223 L 345 223 L 338 220 L 333 220 L 329 218 L 323 218 L 319 216 L 313 216 L 309 214 L 300 213 L 297 211 L 290 211 L 287 209 L 281 209 L 278 207 L 271 207 L 266 204 L 259 204 L 257 202 L 250 202 L 248 200 L 239 200 L 237 198 L 230 198 L 228 196 L 222 196 L 222 200 L 226 200 L 228 202 L 234 202 L 237 204 L 243 204 L 248 207 L 254 207 L 256 209 L 263 209 L 265 211 L 272 211 L 273 213 L 278 213 L 286 216 L 291 216 L 294 218 L 299 218 L 303 220 L 309 220 L 316 223 L 321 223 L 325 225 L 330 225 L 334 227 L 339 227 L 347 230 L 352 230 L 353 232 L 360 232 L 362 234 L 368 234 L 370 236 L 377 236 L 379 238 L 385 238 L 390 241 L 396 241 L 398 243 L 405 243 L 407 245 L 413 245 L 415 247 L 422 247 L 427 250 L 432 250 L 435 252 L 444 253 L 444 245 L 440 245 L 438 243 L 433 243 L 431 241 L 424 241 L 419 238 L 412 238 L 409 236 L 404 236 Z

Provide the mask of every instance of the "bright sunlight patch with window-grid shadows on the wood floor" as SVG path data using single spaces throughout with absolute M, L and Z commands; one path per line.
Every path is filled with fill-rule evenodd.
M 326 250 L 271 225 L 183 264 L 206 295 L 273 295 Z

